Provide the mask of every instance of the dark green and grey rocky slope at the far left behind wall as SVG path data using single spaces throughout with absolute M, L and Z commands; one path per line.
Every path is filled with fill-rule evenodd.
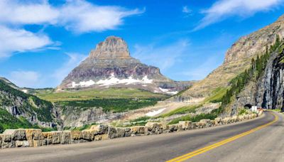
M 0 79 L 0 124 L 2 126 L 13 127 L 15 121 L 19 123 L 18 126 L 21 126 L 21 121 L 24 123 L 22 126 L 35 124 L 42 127 L 55 127 L 58 125 L 55 107 L 51 102 L 15 88 L 17 88 L 16 85 L 9 80 Z M 8 117 L 7 113 L 11 114 L 11 117 Z

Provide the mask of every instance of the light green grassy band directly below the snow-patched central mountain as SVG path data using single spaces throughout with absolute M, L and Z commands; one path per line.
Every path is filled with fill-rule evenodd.
M 89 99 L 127 99 L 127 98 L 165 98 L 166 95 L 155 94 L 145 90 L 130 88 L 109 88 L 105 90 L 80 90 L 66 92 L 46 92 L 37 94 L 40 99 L 50 102 L 77 101 Z

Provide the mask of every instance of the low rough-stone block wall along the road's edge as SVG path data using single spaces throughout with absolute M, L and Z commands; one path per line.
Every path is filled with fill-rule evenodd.
M 215 118 L 214 120 L 202 119 L 199 122 L 180 121 L 178 124 L 163 124 L 148 122 L 145 126 L 132 126 L 119 128 L 110 125 L 94 125 L 83 131 L 49 131 L 41 129 L 6 129 L 0 134 L 0 147 L 38 147 L 52 144 L 78 144 L 87 141 L 99 141 L 106 139 L 121 138 L 125 136 L 146 136 L 151 134 L 165 134 L 174 131 L 189 129 L 202 129 L 210 126 L 231 124 L 260 116 L 258 114 L 246 114 L 241 116 Z

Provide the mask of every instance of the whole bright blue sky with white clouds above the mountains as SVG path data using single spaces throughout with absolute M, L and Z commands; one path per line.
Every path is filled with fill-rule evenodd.
M 201 80 L 241 36 L 273 23 L 283 0 L 2 0 L 0 76 L 56 87 L 107 36 L 173 80 Z

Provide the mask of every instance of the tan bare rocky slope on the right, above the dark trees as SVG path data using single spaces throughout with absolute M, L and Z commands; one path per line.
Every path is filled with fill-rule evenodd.
M 236 41 L 226 52 L 224 63 L 219 68 L 211 72 L 204 80 L 196 82 L 182 95 L 174 97 L 173 100 L 199 101 L 212 95 L 212 91 L 218 87 L 227 87 L 229 80 L 249 68 L 251 59 L 263 53 L 266 46 L 273 44 L 276 36 L 284 37 L 284 16 L 278 18 L 275 23 Z

